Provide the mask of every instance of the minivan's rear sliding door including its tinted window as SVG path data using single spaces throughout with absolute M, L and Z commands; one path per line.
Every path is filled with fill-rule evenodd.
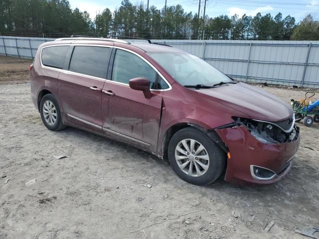
M 101 94 L 112 48 L 74 46 L 68 71 L 58 78 L 58 93 L 68 122 L 102 133 Z

